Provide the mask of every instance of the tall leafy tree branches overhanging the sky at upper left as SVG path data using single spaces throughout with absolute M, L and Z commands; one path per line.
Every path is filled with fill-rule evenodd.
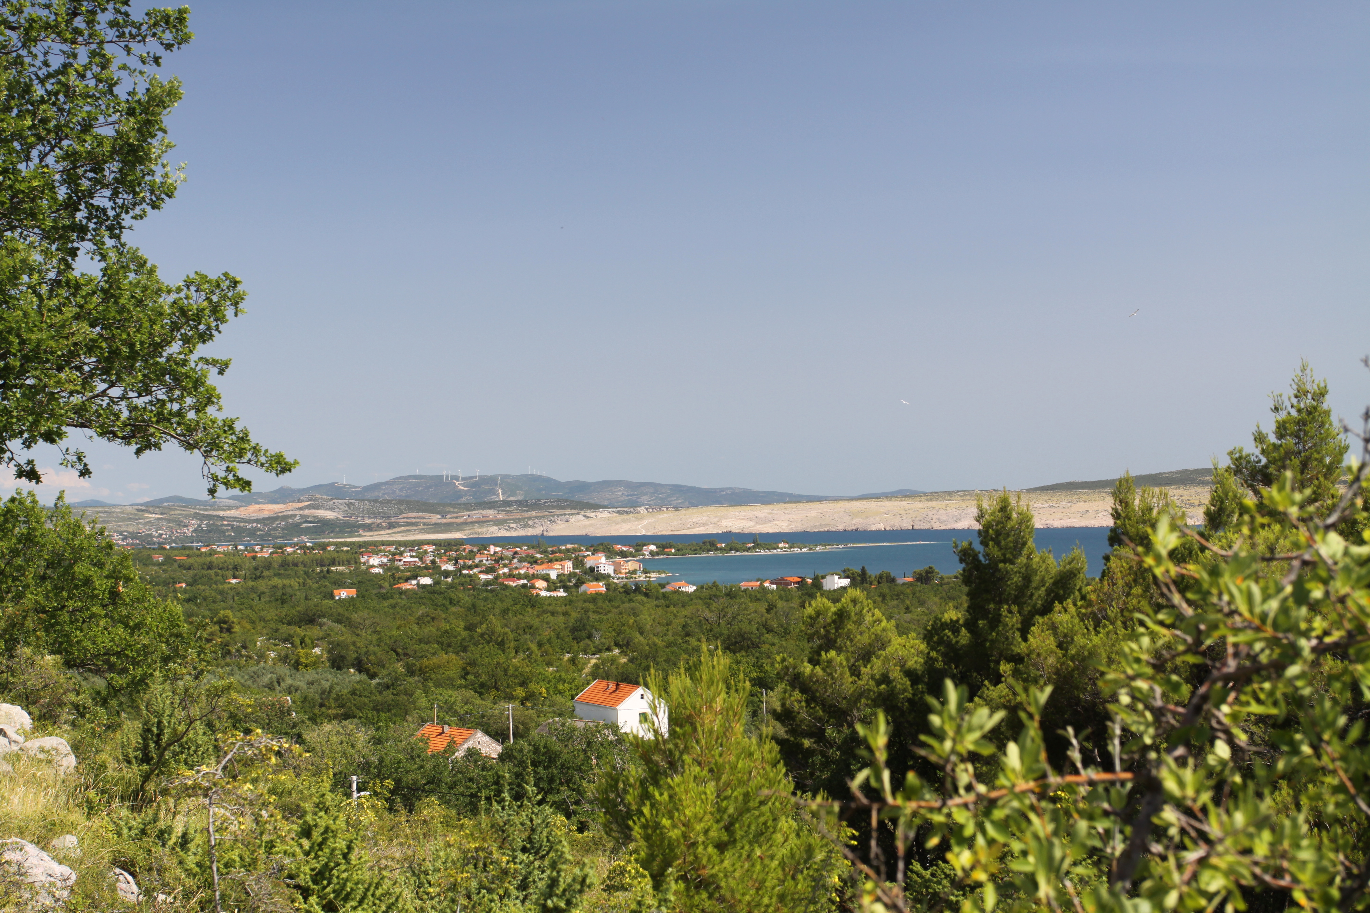
M 173 197 L 181 172 L 164 118 L 181 99 L 160 52 L 192 37 L 189 10 L 132 11 L 126 0 L 11 0 L 0 5 L 0 465 L 40 482 L 38 443 L 90 475 L 73 430 L 141 456 L 199 453 L 210 494 L 251 490 L 240 465 L 295 463 L 222 417 L 197 356 L 241 313 L 227 275 L 177 285 L 125 233 Z M 89 268 L 88 268 L 89 267 Z

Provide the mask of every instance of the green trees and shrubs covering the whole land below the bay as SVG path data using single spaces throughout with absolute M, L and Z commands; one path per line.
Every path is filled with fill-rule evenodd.
M 1366 468 L 1325 398 L 1295 378 L 1197 534 L 1119 479 L 1099 578 L 1007 491 L 954 578 L 559 598 L 466 572 L 537 548 L 397 589 L 427 571 L 127 550 L 15 496 L 0 698 L 77 762 L 10 751 L 0 839 L 90 910 L 115 869 L 167 910 L 1365 909 Z M 669 730 L 564 723 L 597 678 Z M 434 719 L 499 756 L 429 754 Z

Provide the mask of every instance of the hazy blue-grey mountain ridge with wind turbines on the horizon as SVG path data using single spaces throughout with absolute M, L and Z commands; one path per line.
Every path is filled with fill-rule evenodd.
M 547 475 L 482 475 L 453 479 L 441 475 L 400 475 L 371 485 L 326 482 L 307 489 L 281 486 L 274 491 L 233 493 L 218 501 L 193 500 L 179 494 L 144 501 L 145 506 L 162 504 L 292 504 L 321 498 L 353 501 L 426 501 L 429 504 L 464 504 L 497 501 L 541 501 L 560 498 L 610 508 L 673 506 L 697 508 L 725 504 L 782 504 L 785 501 L 849 501 L 856 498 L 888 498 L 901 494 L 925 494 L 915 489 L 880 491 L 874 494 L 795 494 L 792 491 L 756 491 L 754 489 L 701 489 L 692 485 L 662 482 L 629 482 L 604 479 L 601 482 L 562 482 Z

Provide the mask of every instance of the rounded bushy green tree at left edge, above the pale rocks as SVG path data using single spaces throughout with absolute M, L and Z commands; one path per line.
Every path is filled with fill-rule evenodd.
M 62 656 L 70 669 L 141 690 L 190 654 L 181 606 L 159 600 L 129 553 L 63 498 L 0 505 L 0 646 Z

